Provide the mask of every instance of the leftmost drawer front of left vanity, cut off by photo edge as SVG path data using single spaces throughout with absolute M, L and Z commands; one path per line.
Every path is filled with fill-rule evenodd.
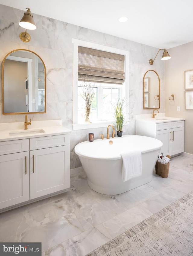
M 0 155 L 24 151 L 29 151 L 29 139 L 0 142 Z

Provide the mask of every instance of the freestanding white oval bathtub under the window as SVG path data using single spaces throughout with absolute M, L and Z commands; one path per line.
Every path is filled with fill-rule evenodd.
M 110 145 L 112 141 L 112 145 Z M 77 144 L 75 153 L 87 174 L 91 189 L 105 195 L 117 195 L 150 182 L 163 143 L 157 139 L 126 135 L 110 139 L 84 141 Z M 123 182 L 120 152 L 140 150 L 142 175 Z

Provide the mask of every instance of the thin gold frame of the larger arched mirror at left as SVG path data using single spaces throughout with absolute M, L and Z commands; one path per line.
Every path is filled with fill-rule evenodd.
M 5 60 L 6 58 L 13 52 L 15 51 L 27 51 L 27 52 L 31 52 L 33 54 L 35 54 L 38 58 L 40 58 L 40 60 L 42 61 L 43 65 L 44 65 L 44 84 L 45 84 L 45 99 L 44 99 L 44 112 L 14 112 L 14 113 L 4 113 L 4 63 L 5 63 Z M 16 50 L 13 50 L 11 52 L 9 52 L 5 58 L 3 59 L 3 62 L 2 62 L 2 112 L 3 112 L 3 115 L 14 115 L 14 114 L 40 114 L 40 113 L 46 113 L 46 66 L 42 60 L 42 58 L 35 52 L 33 51 L 30 51 L 30 50 L 26 50 L 26 49 L 16 49 Z

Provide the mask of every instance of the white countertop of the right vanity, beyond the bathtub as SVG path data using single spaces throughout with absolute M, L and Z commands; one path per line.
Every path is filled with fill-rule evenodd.
M 169 117 L 165 116 L 165 113 L 159 113 L 155 116 L 155 118 L 152 117 L 152 114 L 135 115 L 135 120 L 140 122 L 166 123 L 172 121 L 182 121 L 185 120 L 185 118 Z

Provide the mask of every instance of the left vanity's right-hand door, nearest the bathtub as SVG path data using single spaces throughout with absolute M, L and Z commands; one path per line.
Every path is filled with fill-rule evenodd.
M 70 145 L 30 151 L 30 199 L 70 187 Z

